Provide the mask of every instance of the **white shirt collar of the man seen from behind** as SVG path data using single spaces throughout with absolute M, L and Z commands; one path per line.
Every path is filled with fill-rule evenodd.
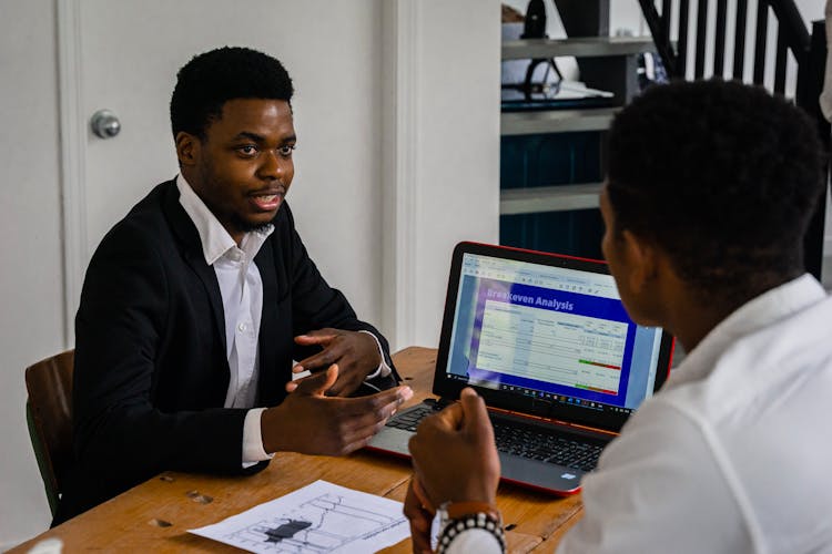
M 713 369 L 717 359 L 740 338 L 788 318 L 825 298 L 818 280 L 804 274 L 772 288 L 740 306 L 689 352 L 668 384 L 702 378 Z M 672 383 L 672 384 L 671 384 Z

